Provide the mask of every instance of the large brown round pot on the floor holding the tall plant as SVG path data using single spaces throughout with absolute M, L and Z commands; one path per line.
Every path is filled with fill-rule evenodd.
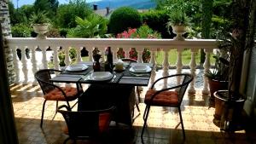
M 214 92 L 215 97 L 215 113 L 213 123 L 221 129 L 237 130 L 242 124 L 241 112 L 243 109 L 244 99 L 228 101 L 229 91 L 218 90 Z M 224 112 L 228 115 L 224 116 Z M 234 128 L 236 125 L 236 128 Z M 233 128 L 231 128 L 233 127 Z

